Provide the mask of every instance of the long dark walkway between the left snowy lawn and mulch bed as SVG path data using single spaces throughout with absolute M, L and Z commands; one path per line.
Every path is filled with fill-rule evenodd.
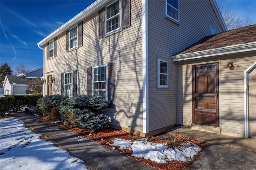
M 22 120 L 26 126 L 33 128 L 37 134 L 42 134 L 62 146 L 70 155 L 83 160 L 92 170 L 154 170 L 151 166 L 97 142 L 81 140 L 80 137 L 68 130 L 28 113 L 13 113 L 13 116 Z

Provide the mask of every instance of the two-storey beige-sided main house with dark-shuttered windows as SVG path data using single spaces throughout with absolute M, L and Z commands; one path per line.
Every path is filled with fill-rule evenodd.
M 37 44 L 44 79 L 54 80 L 44 95 L 111 100 L 109 126 L 142 136 L 190 125 L 192 103 L 182 100 L 192 93 L 181 83 L 191 72 L 171 56 L 224 31 L 212 0 L 97 0 Z

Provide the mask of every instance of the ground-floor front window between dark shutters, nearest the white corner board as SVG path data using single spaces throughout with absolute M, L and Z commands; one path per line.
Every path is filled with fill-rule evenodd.
M 93 95 L 100 99 L 107 97 L 107 66 L 98 66 L 93 68 Z

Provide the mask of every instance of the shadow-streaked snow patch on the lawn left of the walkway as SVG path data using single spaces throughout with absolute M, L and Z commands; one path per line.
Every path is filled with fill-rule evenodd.
M 41 140 L 19 119 L 0 119 L 0 169 L 2 170 L 88 170 L 52 142 Z

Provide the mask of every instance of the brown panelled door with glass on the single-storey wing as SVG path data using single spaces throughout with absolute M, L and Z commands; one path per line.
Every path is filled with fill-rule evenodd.
M 192 66 L 192 123 L 219 127 L 218 63 Z

